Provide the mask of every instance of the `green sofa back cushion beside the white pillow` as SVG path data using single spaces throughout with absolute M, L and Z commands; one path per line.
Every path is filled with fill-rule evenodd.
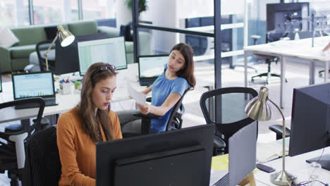
M 12 28 L 11 31 L 20 39 L 18 46 L 37 44 L 47 39 L 44 27 L 41 26 Z

